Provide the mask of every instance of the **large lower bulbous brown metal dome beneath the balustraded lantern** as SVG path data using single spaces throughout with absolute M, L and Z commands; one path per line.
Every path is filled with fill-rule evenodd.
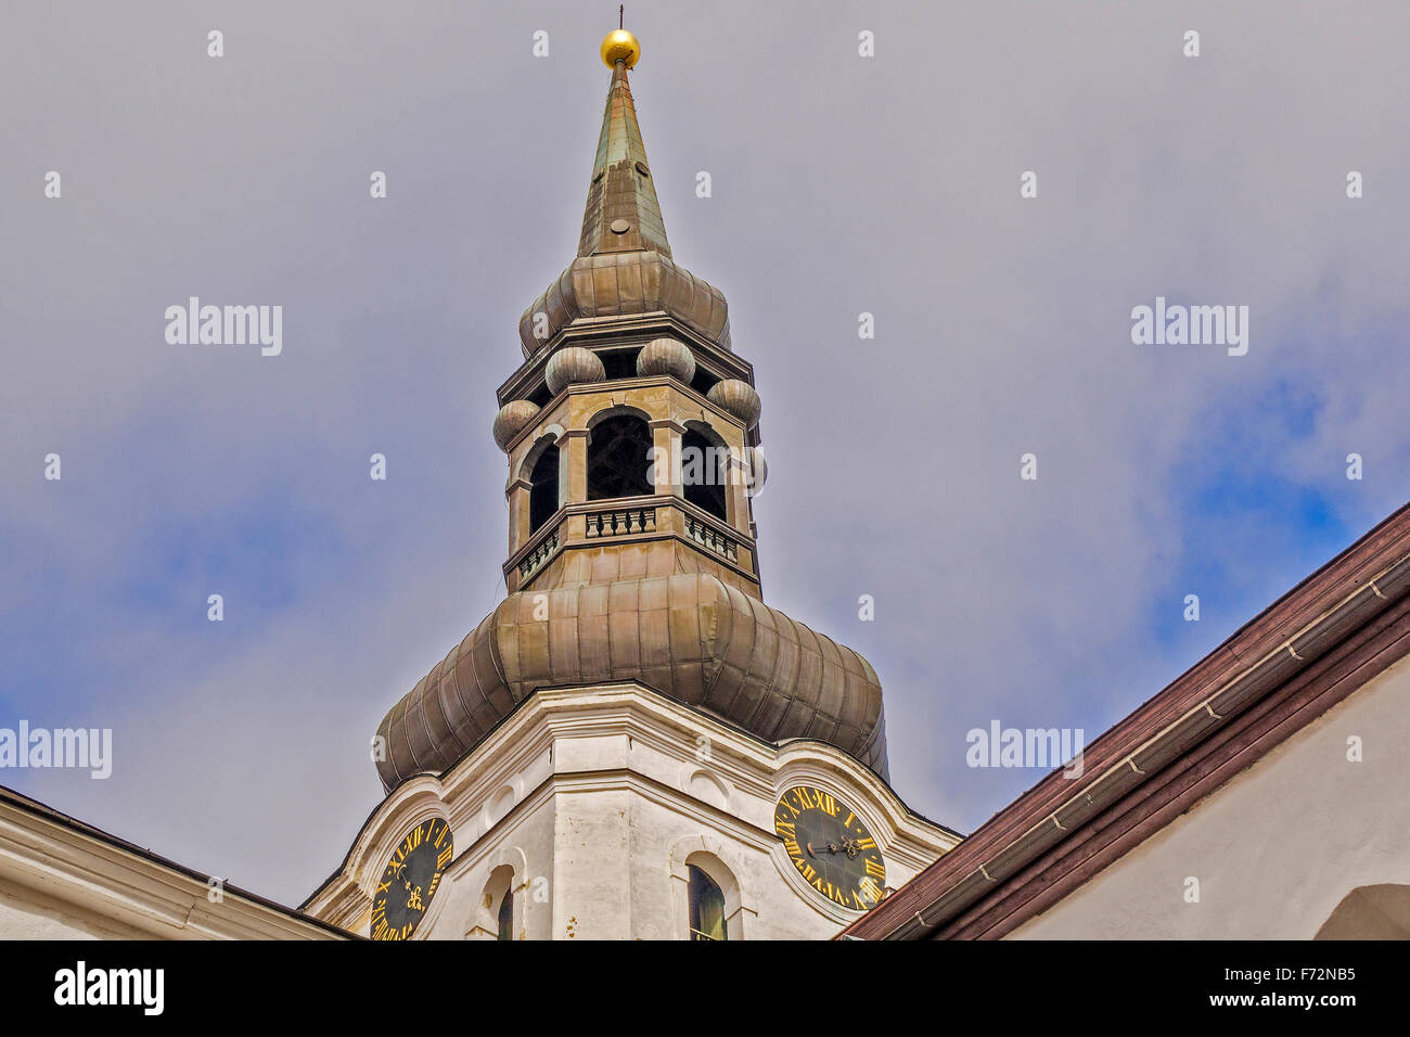
M 547 619 L 536 619 L 544 594 Z M 888 777 L 881 683 L 867 660 L 687 573 L 510 594 L 382 718 L 382 786 L 450 769 L 540 687 L 622 680 L 770 742 L 828 742 Z

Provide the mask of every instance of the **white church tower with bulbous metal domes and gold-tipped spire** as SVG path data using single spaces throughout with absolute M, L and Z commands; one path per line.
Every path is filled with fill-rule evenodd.
M 959 837 L 887 784 L 881 684 L 764 604 L 760 396 L 675 262 L 612 69 L 577 255 L 499 387 L 508 595 L 398 701 L 305 904 L 375 938 L 826 938 Z

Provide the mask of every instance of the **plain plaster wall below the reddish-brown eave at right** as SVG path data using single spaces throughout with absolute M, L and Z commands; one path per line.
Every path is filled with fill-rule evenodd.
M 1410 657 L 1012 937 L 1311 938 L 1354 887 L 1410 883 L 1407 746 Z

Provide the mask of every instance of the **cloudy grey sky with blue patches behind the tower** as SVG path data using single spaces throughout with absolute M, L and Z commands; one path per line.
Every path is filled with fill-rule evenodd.
M 505 593 L 495 388 L 577 247 L 615 8 L 10 8 L 0 727 L 111 728 L 113 773 L 0 784 L 283 903 L 341 863 L 378 721 Z M 627 27 L 763 398 L 766 600 L 873 663 L 915 811 L 971 831 L 1043 772 L 966 732 L 1090 741 L 1410 497 L 1410 6 Z M 168 343 L 193 295 L 282 306 L 279 356 Z M 1158 296 L 1246 306 L 1246 354 L 1134 343 Z

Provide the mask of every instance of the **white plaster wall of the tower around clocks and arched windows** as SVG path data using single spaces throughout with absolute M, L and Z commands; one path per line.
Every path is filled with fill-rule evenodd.
M 695 851 L 733 878 L 722 882 L 732 940 L 830 938 L 859 916 L 808 887 L 773 831 L 778 794 L 798 782 L 832 789 L 864 817 L 893 886 L 956 841 L 838 749 L 768 746 L 637 686 L 602 686 L 540 693 L 453 773 L 393 793 L 310 910 L 365 934 L 385 858 L 430 803 L 457 856 L 416 938 L 494 938 L 484 893 L 508 863 L 516 938 L 682 940 Z M 494 806 L 505 789 L 508 814 Z

